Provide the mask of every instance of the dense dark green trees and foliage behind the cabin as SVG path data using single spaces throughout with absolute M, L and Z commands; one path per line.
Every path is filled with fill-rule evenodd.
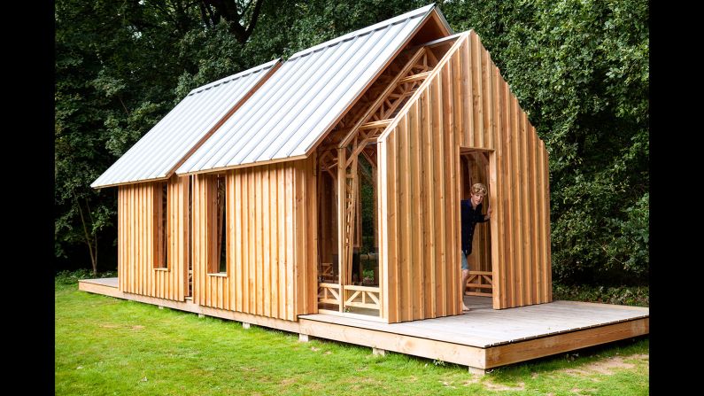
M 242 10 L 250 2 L 235 3 Z M 646 283 L 647 2 L 438 3 L 455 31 L 472 28 L 480 35 L 545 141 L 554 280 Z M 265 0 L 244 41 L 228 28 L 232 20 L 215 23 L 199 4 L 57 2 L 57 258 L 81 261 L 87 240 L 97 241 L 102 257 L 115 254 L 116 189 L 96 191 L 89 184 L 190 89 L 427 2 Z M 368 198 L 368 189 L 361 194 Z M 369 214 L 363 215 L 367 226 Z

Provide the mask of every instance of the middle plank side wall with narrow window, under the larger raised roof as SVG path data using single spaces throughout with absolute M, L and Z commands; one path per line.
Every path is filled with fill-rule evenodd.
M 314 159 L 228 170 L 228 271 L 208 275 L 216 257 L 214 177 L 194 183 L 193 300 L 247 314 L 297 320 L 316 312 Z M 207 204 L 210 202 L 210 206 Z

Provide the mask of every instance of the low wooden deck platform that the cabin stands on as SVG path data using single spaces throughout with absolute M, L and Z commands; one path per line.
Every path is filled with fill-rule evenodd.
M 375 353 L 393 351 L 485 369 L 565 353 L 649 332 L 650 309 L 576 301 L 491 309 L 491 298 L 466 297 L 468 313 L 438 319 L 387 324 L 331 314 L 306 314 L 283 321 L 203 307 L 190 300 L 155 299 L 118 290 L 117 278 L 79 282 L 79 290 L 132 299 L 197 314 L 297 332 L 308 337 L 370 346 Z

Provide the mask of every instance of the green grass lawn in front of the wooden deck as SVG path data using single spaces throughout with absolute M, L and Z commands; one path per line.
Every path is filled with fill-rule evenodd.
M 55 283 L 64 395 L 646 395 L 648 338 L 491 371 L 313 339 Z

